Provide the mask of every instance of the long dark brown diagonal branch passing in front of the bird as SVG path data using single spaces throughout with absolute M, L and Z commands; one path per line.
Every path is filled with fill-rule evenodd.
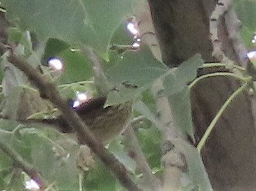
M 16 55 L 11 53 L 9 61 L 17 68 L 23 71 L 27 78 L 38 87 L 40 95 L 44 99 L 49 99 L 62 112 L 65 120 L 75 130 L 77 135 L 82 138 L 83 143 L 87 144 L 92 151 L 103 161 L 103 163 L 111 169 L 111 171 L 120 180 L 121 184 L 128 190 L 140 190 L 138 186 L 130 179 L 125 166 L 121 164 L 113 154 L 110 154 L 107 149 L 98 141 L 88 129 L 87 125 L 78 117 L 66 102 L 60 97 L 59 92 L 54 84 L 49 80 L 42 78 L 40 73 L 32 68 L 26 61 L 21 60 Z

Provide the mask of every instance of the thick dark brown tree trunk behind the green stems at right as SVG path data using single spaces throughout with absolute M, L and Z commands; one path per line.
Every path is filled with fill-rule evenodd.
M 214 62 L 209 17 L 214 0 L 149 0 L 156 35 L 164 63 L 179 66 L 195 53 L 205 62 Z M 237 56 L 227 35 L 224 20 L 219 27 L 222 49 L 234 61 Z M 211 70 L 201 70 L 209 73 Z M 205 79 L 191 92 L 196 136 L 201 138 L 225 100 L 240 86 L 232 78 Z M 255 101 L 240 94 L 220 118 L 202 159 L 214 190 L 254 190 L 256 178 Z

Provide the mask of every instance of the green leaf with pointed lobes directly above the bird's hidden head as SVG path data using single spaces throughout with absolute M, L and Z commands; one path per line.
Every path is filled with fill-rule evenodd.
M 147 47 L 140 51 L 127 51 L 123 59 L 107 71 L 113 84 L 130 82 L 138 87 L 145 86 L 168 71 L 168 67 L 156 60 Z

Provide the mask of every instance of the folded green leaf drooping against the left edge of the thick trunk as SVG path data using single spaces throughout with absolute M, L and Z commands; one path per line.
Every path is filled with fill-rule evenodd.
M 176 125 L 194 139 L 194 128 L 191 116 L 191 103 L 187 83 L 196 78 L 197 68 L 202 66 L 200 55 L 194 55 L 184 61 L 178 68 L 170 69 L 164 78 L 164 94 L 169 95 L 169 102 Z

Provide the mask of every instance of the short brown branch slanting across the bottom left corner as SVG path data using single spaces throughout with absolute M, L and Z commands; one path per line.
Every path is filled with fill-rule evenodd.
M 8 144 L 4 143 L 4 141 L 0 140 L 0 149 L 6 153 L 9 158 L 11 158 L 17 167 L 21 168 L 22 171 L 26 172 L 31 179 L 35 180 L 41 189 L 47 188 L 46 181 L 39 174 L 36 167 L 32 166 L 29 162 L 25 161 L 22 156 L 17 153 L 14 149 L 11 148 Z

